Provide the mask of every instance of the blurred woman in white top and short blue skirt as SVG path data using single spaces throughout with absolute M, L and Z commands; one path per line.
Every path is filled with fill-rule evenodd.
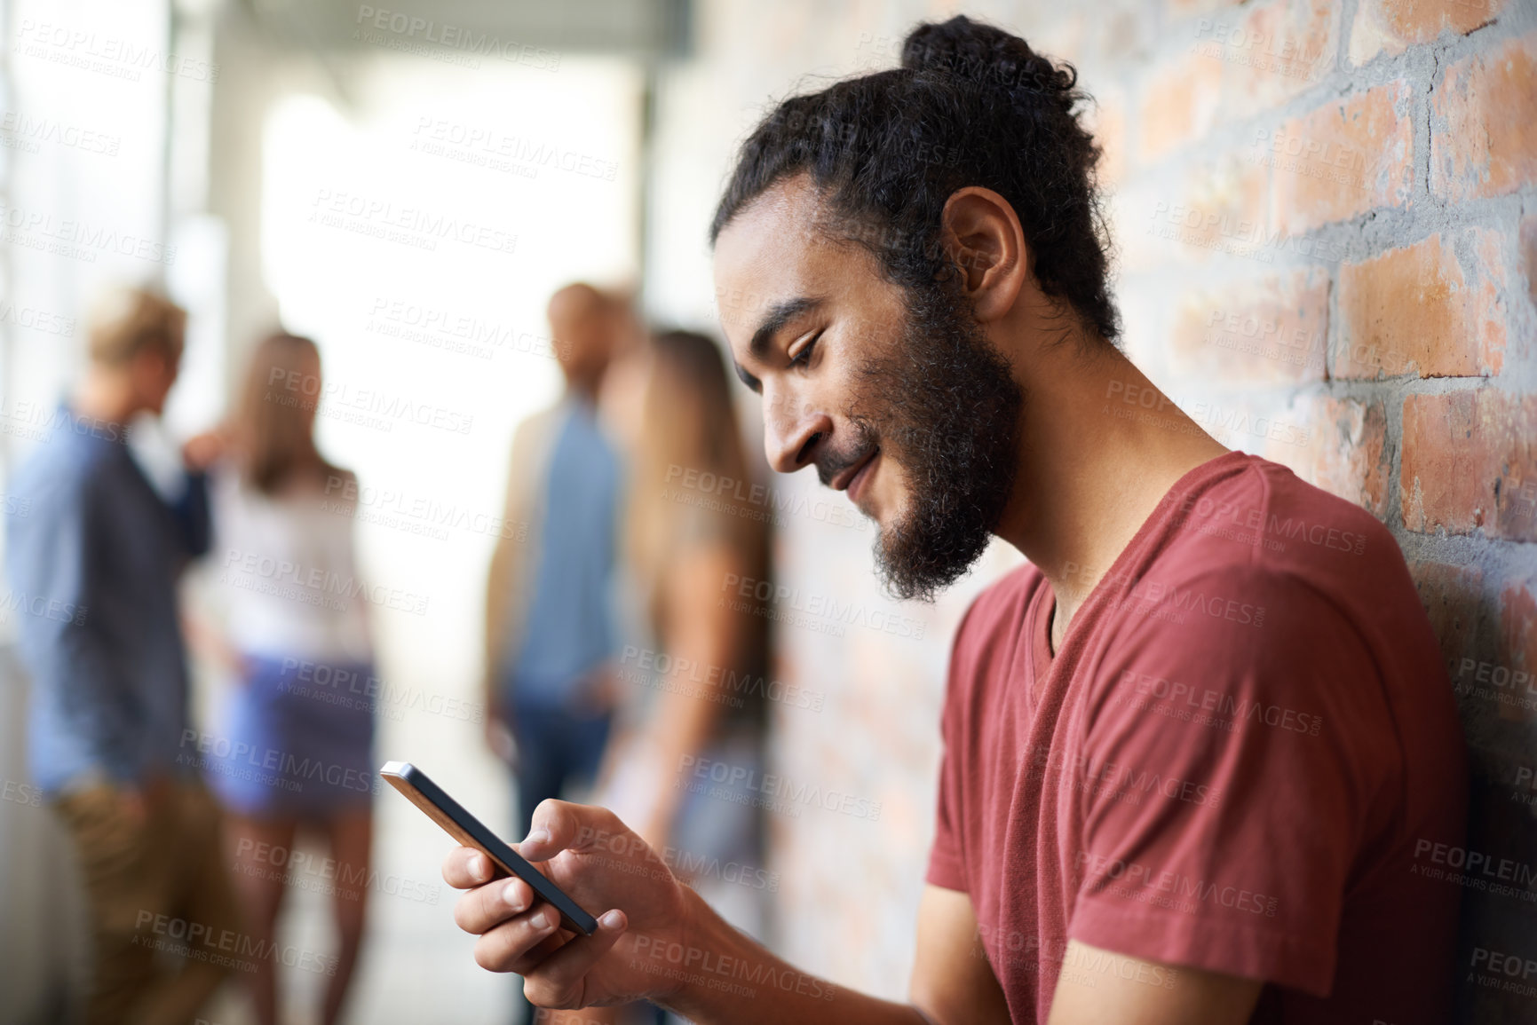
M 275 333 L 251 358 L 212 492 L 207 605 L 221 622 L 198 633 L 235 678 L 204 768 L 229 811 L 235 885 L 260 945 L 274 942 L 295 839 L 314 833 L 329 848 L 314 884 L 330 891 L 338 936 L 330 1025 L 363 940 L 380 688 L 354 553 L 357 478 L 315 446 L 320 375 L 315 343 L 297 335 Z M 252 1000 L 272 1025 L 277 965 L 254 964 Z

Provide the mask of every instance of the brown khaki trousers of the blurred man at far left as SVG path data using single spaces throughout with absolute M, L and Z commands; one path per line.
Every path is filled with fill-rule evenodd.
M 238 936 L 218 805 L 200 784 L 151 788 L 141 821 L 94 785 L 54 802 L 74 836 L 91 913 L 88 1025 L 184 1025 L 226 974 Z

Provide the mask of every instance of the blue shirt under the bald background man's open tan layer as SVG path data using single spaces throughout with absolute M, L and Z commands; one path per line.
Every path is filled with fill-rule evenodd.
M 619 458 L 581 398 L 566 403 L 550 450 L 544 522 L 513 701 L 559 705 L 618 650 L 612 602 Z

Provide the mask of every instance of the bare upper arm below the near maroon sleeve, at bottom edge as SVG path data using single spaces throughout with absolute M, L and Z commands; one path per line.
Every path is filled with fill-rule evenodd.
M 1243 1025 L 1260 982 L 1067 944 L 1047 1025 Z

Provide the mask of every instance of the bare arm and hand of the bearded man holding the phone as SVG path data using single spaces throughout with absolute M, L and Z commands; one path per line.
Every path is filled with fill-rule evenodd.
M 962 893 L 938 887 L 925 891 L 913 1003 L 895 1003 L 798 971 L 732 928 L 612 811 L 546 801 L 518 848 L 598 914 L 593 936 L 561 933 L 553 919 L 544 919 L 544 905 L 532 905 L 526 882 L 492 881 L 486 857 L 470 848 L 449 853 L 443 877 L 450 887 L 469 890 L 453 919 L 480 936 L 476 964 L 523 974 L 524 994 L 536 1007 L 579 1008 L 644 997 L 690 1020 L 732 1025 L 1008 1020 L 998 980 L 976 950 L 976 917 Z

